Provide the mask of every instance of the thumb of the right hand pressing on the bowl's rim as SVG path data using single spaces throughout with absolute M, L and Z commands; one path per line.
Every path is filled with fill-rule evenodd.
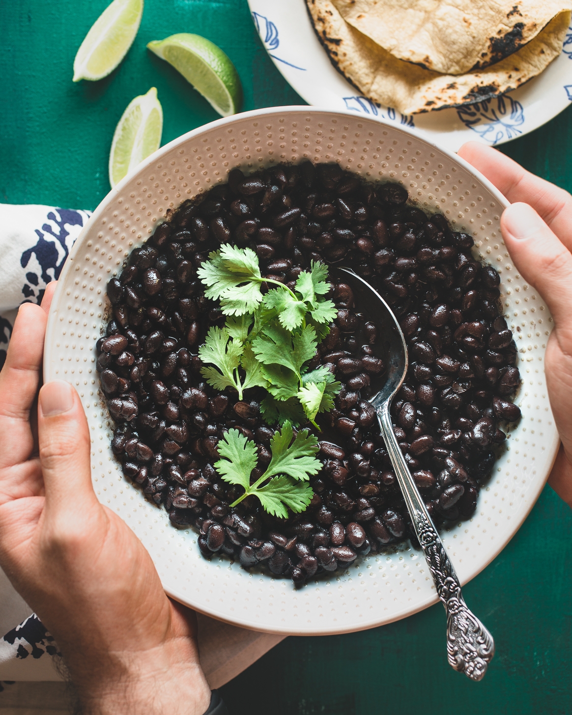
M 501 217 L 506 247 L 524 279 L 541 293 L 557 325 L 572 312 L 572 255 L 528 204 L 511 204 Z

